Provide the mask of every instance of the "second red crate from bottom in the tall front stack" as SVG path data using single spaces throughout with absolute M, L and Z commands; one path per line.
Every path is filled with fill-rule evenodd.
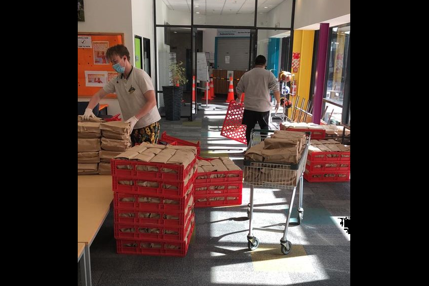
M 195 221 L 195 213 L 193 213 L 190 219 L 187 220 L 185 226 L 172 226 L 172 225 L 154 225 L 154 224 L 124 224 L 124 223 L 115 223 L 115 239 L 123 239 L 123 240 L 149 240 L 153 242 L 159 241 L 172 241 L 172 242 L 182 242 L 185 240 L 186 232 L 189 229 L 191 223 Z M 131 232 L 122 232 L 124 228 L 131 230 Z M 144 229 L 147 231 L 148 229 L 156 229 L 159 234 L 156 233 L 142 233 L 140 230 Z M 178 234 L 164 234 L 164 231 L 173 231 Z

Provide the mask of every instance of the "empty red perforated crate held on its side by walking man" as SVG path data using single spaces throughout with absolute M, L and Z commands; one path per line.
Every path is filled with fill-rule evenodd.
M 222 126 L 221 136 L 247 144 L 246 125 L 242 125 L 244 104 L 231 100 Z

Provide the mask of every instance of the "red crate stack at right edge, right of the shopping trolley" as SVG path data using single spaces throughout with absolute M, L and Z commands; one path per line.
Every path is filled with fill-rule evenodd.
M 305 165 L 304 179 L 308 182 L 349 181 L 350 151 L 309 153 Z

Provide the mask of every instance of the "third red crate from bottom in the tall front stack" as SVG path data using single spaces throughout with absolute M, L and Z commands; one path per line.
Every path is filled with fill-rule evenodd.
M 195 198 L 194 198 L 195 200 Z M 115 223 L 125 223 L 125 224 L 134 224 L 134 225 L 166 225 L 166 226 L 184 226 L 188 221 L 189 217 L 193 213 L 194 205 L 190 206 L 186 213 L 179 211 L 160 211 L 158 212 L 159 218 L 150 218 L 150 217 L 139 217 L 139 213 L 146 213 L 146 211 L 139 210 L 122 210 L 114 208 L 114 222 Z M 132 214 L 132 217 L 124 217 L 121 214 Z M 179 219 L 173 218 L 164 218 L 165 215 L 171 215 L 178 217 Z

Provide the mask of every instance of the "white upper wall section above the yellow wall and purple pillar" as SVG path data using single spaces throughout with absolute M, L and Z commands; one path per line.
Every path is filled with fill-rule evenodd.
M 318 30 L 319 23 L 330 23 L 332 27 L 348 22 L 350 22 L 350 0 L 296 1 L 295 30 Z

